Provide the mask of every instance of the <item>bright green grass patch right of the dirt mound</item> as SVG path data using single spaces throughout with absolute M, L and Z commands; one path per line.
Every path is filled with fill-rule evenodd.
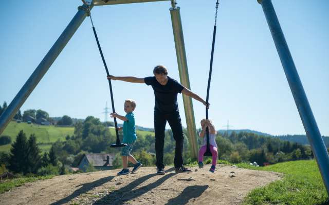
M 243 204 L 329 204 L 315 160 L 288 161 L 258 168 L 246 163 L 239 163 L 236 166 L 285 174 L 282 180 L 252 190 Z

